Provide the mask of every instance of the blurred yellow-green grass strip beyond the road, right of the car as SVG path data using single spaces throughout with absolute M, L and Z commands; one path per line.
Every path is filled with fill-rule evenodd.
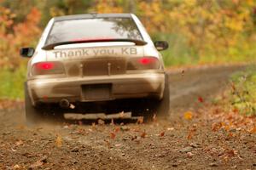
M 161 52 L 166 66 L 237 64 L 256 60 L 256 43 L 247 42 L 245 37 L 241 37 L 241 41 L 232 47 L 209 47 L 204 49 L 203 54 L 189 45 L 183 35 L 159 33 L 151 37 L 153 41 L 169 42 L 169 48 Z

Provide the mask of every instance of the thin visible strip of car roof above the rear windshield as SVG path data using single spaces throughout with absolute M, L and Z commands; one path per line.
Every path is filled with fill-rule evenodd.
M 80 20 L 80 19 L 93 19 L 93 18 L 131 18 L 131 14 L 73 14 L 65 16 L 57 16 L 54 18 L 55 21 L 61 20 Z

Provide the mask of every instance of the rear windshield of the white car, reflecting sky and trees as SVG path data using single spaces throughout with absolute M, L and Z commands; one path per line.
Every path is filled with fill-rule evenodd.
M 61 20 L 55 21 L 45 45 L 99 39 L 143 40 L 143 37 L 131 18 Z

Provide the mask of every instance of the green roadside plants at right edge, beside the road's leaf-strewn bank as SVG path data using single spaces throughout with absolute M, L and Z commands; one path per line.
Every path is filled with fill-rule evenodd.
M 242 115 L 256 116 L 255 65 L 231 77 L 230 104 Z

